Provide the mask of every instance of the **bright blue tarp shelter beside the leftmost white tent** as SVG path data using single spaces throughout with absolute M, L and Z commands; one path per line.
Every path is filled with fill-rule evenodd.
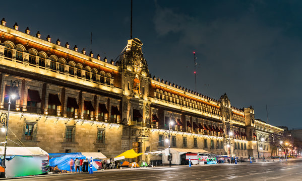
M 83 156 L 81 153 L 49 153 L 49 166 L 57 165 L 57 167 L 61 170 L 70 171 L 69 162 L 71 158 L 74 160 L 76 158 L 85 159 L 86 156 Z M 88 158 L 88 160 L 90 162 L 90 158 Z M 92 168 L 93 171 L 97 170 L 97 168 L 95 168 L 94 166 Z

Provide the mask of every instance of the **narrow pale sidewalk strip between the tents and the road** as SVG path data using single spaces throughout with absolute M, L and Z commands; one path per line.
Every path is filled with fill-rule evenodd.
M 294 160 L 294 159 L 290 159 L 290 160 Z M 284 162 L 285 160 L 282 160 L 282 162 Z M 289 160 L 287 160 L 289 161 Z M 267 161 L 267 163 L 273 163 L 274 161 Z M 275 162 L 279 162 L 275 161 Z M 258 161 L 258 162 L 253 162 L 252 164 L 257 164 L 257 163 L 266 163 L 266 162 L 262 162 L 262 161 Z M 250 162 L 239 162 L 238 165 L 240 164 L 251 164 Z M 192 167 L 196 167 L 196 166 L 218 166 L 218 165 L 234 165 L 234 163 L 220 163 L 220 164 L 203 164 L 203 165 L 192 165 Z M 156 167 L 137 167 L 137 168 L 122 168 L 122 169 L 105 169 L 105 170 L 97 170 L 97 171 L 93 171 L 94 173 L 99 173 L 99 172 L 114 172 L 114 171 L 138 171 L 138 170 L 146 170 L 146 169 L 161 169 L 161 168 L 177 168 L 177 167 L 189 167 L 189 165 L 172 165 L 171 167 L 169 167 L 169 165 L 165 165 L 165 166 L 156 166 Z M 37 177 L 45 177 L 45 176 L 57 176 L 57 175 L 71 175 L 71 174 L 89 174 L 89 173 L 55 173 L 55 174 L 45 174 L 45 175 L 32 175 L 32 176 L 19 176 L 19 177 L 10 177 L 10 178 L 0 178 L 0 180 L 3 179 L 19 179 L 19 178 L 37 178 Z

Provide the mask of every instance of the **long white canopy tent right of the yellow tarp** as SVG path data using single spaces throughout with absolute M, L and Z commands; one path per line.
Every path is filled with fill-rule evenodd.
M 185 148 L 170 148 L 172 154 L 172 164 L 180 164 L 180 155 L 185 153 L 205 153 L 209 154 L 210 152 L 203 150 L 203 149 L 185 149 Z M 162 151 L 162 163 L 169 164 L 168 155 L 169 155 L 169 148 L 166 148 Z

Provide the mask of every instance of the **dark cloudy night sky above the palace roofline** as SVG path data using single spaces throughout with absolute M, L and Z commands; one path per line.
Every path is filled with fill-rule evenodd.
M 54 42 L 115 59 L 130 38 L 130 0 L 4 1 L 1 17 Z M 214 99 L 227 94 L 255 118 L 301 128 L 301 1 L 138 1 L 133 37 L 143 42 L 150 73 Z

